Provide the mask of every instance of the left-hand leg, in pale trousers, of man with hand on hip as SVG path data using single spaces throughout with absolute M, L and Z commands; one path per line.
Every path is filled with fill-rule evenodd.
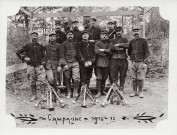
M 28 75 L 28 79 L 30 80 L 30 85 L 31 85 L 32 97 L 30 99 L 30 102 L 32 102 L 32 101 L 37 99 L 37 95 L 36 95 L 36 73 L 35 73 L 35 69 L 34 69 L 33 66 L 30 66 L 30 65 L 27 66 L 27 75 Z

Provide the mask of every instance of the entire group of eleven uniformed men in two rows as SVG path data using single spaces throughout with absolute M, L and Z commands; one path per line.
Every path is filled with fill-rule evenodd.
M 132 30 L 134 39 L 128 41 L 122 36 L 122 27 L 115 28 L 113 21 L 109 21 L 107 25 L 108 31 L 101 30 L 97 26 L 97 19 L 92 17 L 88 29 L 80 31 L 78 21 L 74 20 L 72 29 L 63 32 L 61 22 L 57 20 L 56 30 L 49 34 L 49 42 L 45 46 L 37 42 L 38 33 L 32 32 L 31 43 L 16 53 L 20 59 L 27 62 L 32 89 L 30 101 L 37 99 L 36 81 L 41 82 L 41 89 L 45 89 L 46 83 L 49 83 L 58 91 L 57 82 L 61 71 L 67 90 L 66 98 L 77 97 L 81 86 L 89 87 L 93 71 L 96 76 L 96 98 L 106 94 L 105 84 L 108 78 L 123 94 L 128 56 L 131 61 L 129 66 L 133 86 L 130 97 L 143 98 L 144 60 L 149 55 L 147 41 L 140 37 L 141 30 L 138 27 Z

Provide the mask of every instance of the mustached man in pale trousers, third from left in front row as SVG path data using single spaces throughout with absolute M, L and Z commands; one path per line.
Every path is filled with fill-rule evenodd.
M 60 47 L 60 63 L 64 69 L 65 83 L 67 88 L 66 98 L 71 98 L 71 78 L 74 80 L 73 96 L 76 97 L 80 85 L 79 62 L 76 54 L 76 42 L 73 40 L 73 31 L 66 33 L 67 40 Z M 71 77 L 72 76 L 72 77 Z

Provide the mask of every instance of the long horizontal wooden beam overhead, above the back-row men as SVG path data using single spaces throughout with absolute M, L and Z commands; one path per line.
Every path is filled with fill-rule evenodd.
M 33 14 L 33 18 L 46 17 L 77 17 L 77 16 L 122 16 L 143 15 L 142 11 L 104 11 L 104 12 L 70 12 L 70 13 L 39 13 Z

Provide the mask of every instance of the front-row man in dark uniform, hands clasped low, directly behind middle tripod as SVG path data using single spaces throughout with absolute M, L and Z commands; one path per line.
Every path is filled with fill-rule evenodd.
M 80 63 L 81 86 L 89 87 L 95 62 L 94 43 L 88 41 L 89 35 L 86 30 L 82 32 L 82 41 L 77 45 L 78 60 Z

